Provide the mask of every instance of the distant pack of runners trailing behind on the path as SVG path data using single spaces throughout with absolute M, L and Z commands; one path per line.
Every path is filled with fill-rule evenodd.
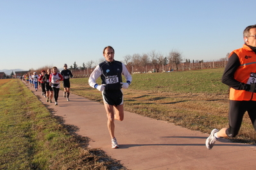
M 46 102 L 52 103 L 54 98 L 55 105 L 58 105 L 58 93 L 60 91 L 60 81 L 63 81 L 64 87 L 64 97 L 69 101 L 69 90 L 70 90 L 70 81 L 69 79 L 73 77 L 72 72 L 67 69 L 67 64 L 64 64 L 64 70 L 58 73 L 58 68 L 53 66 L 53 68 L 42 70 L 40 75 L 37 75 L 36 72 L 31 75 L 31 73 L 26 73 L 22 79 L 26 84 L 35 88 L 35 91 L 38 90 L 38 84 L 42 89 L 42 96 L 46 99 Z

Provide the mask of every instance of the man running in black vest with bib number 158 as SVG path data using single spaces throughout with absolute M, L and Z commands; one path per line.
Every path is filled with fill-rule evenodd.
M 89 84 L 92 88 L 102 91 L 105 110 L 108 118 L 108 132 L 112 139 L 112 148 L 119 148 L 115 139 L 114 120 L 124 120 L 123 92 L 121 88 L 127 89 L 132 82 L 132 76 L 126 66 L 120 61 L 114 60 L 115 51 L 111 46 L 105 47 L 103 56 L 105 61 L 100 63 L 89 78 Z M 126 82 L 122 81 L 122 74 Z M 101 77 L 101 85 L 96 80 Z

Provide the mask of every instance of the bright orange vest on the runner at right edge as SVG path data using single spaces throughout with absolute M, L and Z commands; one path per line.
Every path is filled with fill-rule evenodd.
M 248 83 L 248 79 L 250 78 L 250 82 L 253 82 L 253 77 L 256 75 L 256 54 L 253 52 L 250 47 L 247 45 L 243 45 L 243 48 L 234 50 L 231 52 L 230 56 L 235 53 L 237 54 L 240 66 L 234 73 L 234 79 L 243 82 L 245 84 Z M 229 56 L 229 57 L 230 57 Z M 253 74 L 255 73 L 255 74 Z M 256 76 L 255 76 L 255 83 L 256 83 Z M 253 100 L 256 101 L 256 93 L 252 93 L 245 90 L 237 90 L 234 88 L 230 88 L 230 100 L 237 100 L 237 101 L 248 101 Z

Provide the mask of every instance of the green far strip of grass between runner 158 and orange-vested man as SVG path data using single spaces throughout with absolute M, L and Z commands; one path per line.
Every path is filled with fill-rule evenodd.
M 226 93 L 223 69 L 133 75 L 132 89 L 175 93 Z

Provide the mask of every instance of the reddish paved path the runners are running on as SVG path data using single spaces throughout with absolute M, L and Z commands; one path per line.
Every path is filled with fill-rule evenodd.
M 254 145 L 221 139 L 212 150 L 207 150 L 205 139 L 209 134 L 132 112 L 124 112 L 124 121 L 115 121 L 120 148 L 113 150 L 102 104 L 73 94 L 67 102 L 60 91 L 58 106 L 55 106 L 46 103 L 40 89 L 32 91 L 62 116 L 66 124 L 78 127 L 77 134 L 90 137 L 90 147 L 101 148 L 128 169 L 256 169 Z

